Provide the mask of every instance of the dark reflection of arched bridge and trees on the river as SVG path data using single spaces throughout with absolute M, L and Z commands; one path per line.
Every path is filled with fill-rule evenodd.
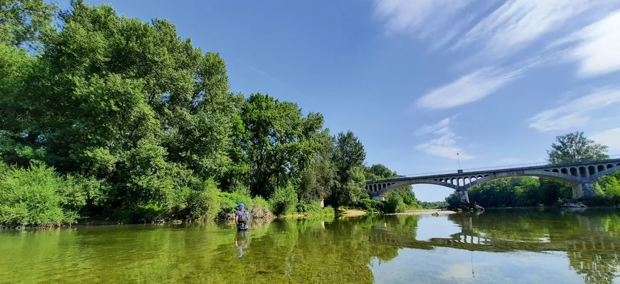
M 616 251 L 620 250 L 618 211 L 504 211 L 453 214 L 447 219 L 460 229 L 448 238 L 417 240 L 417 224 L 403 228 L 402 222 L 394 218 L 375 224 L 368 238 L 371 242 L 422 250 L 565 253 L 570 268 L 582 275 L 586 283 L 611 283 L 620 276 L 620 255 Z

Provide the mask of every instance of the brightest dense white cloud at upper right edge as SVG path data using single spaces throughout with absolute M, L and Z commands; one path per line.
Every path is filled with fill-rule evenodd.
M 620 11 L 586 26 L 552 44 L 576 44 L 568 49 L 570 60 L 579 62 L 580 76 L 596 76 L 620 70 Z

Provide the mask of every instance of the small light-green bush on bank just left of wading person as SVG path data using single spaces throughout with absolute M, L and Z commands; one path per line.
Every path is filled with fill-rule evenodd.
M 213 220 L 221 209 L 218 193 L 220 190 L 215 186 L 213 180 L 205 181 L 203 191 L 190 193 L 187 217 L 191 220 Z

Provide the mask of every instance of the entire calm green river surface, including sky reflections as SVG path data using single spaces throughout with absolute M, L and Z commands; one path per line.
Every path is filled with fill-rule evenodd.
M 0 230 L 0 283 L 620 283 L 620 211 Z

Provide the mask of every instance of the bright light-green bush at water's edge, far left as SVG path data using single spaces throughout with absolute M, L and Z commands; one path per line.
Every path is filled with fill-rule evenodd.
M 71 183 L 41 163 L 11 168 L 0 176 L 0 223 L 60 225 L 73 223 L 83 205 Z M 69 210 L 71 208 L 73 210 Z

